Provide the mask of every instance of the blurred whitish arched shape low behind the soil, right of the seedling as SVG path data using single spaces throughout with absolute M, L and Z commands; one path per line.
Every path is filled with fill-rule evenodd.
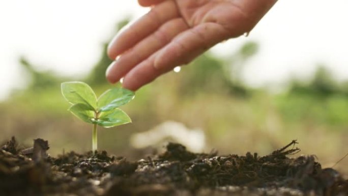
M 149 131 L 135 133 L 130 138 L 134 148 L 158 146 L 167 142 L 177 142 L 192 152 L 202 152 L 206 145 L 206 136 L 202 130 L 189 129 L 184 124 L 166 121 Z

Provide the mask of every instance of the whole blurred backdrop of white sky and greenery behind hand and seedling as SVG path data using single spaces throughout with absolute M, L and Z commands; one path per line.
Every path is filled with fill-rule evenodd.
M 99 128 L 99 149 L 136 159 L 177 141 L 265 155 L 298 139 L 301 154 L 332 166 L 348 152 L 347 6 L 279 1 L 248 37 L 137 91 L 122 107 L 133 123 Z M 52 155 L 90 150 L 92 126 L 67 111 L 60 83 L 88 82 L 97 95 L 112 88 L 107 43 L 148 11 L 136 1 L 1 1 L 1 141 L 41 137 Z

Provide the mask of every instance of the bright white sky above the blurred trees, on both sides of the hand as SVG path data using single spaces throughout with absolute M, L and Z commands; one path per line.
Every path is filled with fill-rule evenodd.
M 346 0 L 280 0 L 249 37 L 219 44 L 214 52 L 233 53 L 247 40 L 259 42 L 260 52 L 243 75 L 253 86 L 308 76 L 317 63 L 348 79 L 347 7 Z M 147 11 L 135 0 L 0 1 L 0 99 L 25 84 L 20 55 L 39 69 L 82 76 L 98 61 L 115 22 Z

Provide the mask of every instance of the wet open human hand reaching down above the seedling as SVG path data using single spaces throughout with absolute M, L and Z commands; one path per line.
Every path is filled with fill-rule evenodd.
M 138 0 L 151 11 L 116 35 L 109 82 L 137 90 L 215 44 L 250 32 L 276 0 Z

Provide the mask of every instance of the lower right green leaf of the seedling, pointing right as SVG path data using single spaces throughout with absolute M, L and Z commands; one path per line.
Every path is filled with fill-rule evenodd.
M 98 120 L 94 121 L 94 123 L 103 127 L 114 127 L 130 122 L 132 120 L 129 116 L 119 108 L 100 113 Z

